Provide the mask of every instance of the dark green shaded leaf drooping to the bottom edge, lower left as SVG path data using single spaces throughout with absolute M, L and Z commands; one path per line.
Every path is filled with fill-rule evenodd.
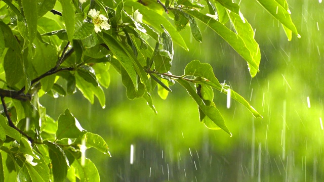
M 49 147 L 54 181 L 65 181 L 69 163 L 64 151 L 56 144 L 47 141 L 45 143 Z

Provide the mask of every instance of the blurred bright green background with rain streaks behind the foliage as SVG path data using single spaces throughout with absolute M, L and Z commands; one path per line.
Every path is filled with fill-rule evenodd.
M 167 100 L 153 94 L 157 115 L 144 99 L 128 100 L 113 67 L 105 109 L 98 100 L 91 105 L 79 92 L 58 99 L 44 96 L 41 103 L 55 119 L 70 108 L 85 129 L 105 139 L 111 158 L 92 149 L 86 154 L 102 181 L 324 181 L 320 119 L 324 3 L 320 2 L 288 1 L 301 35 L 292 41 L 256 1 L 241 2 L 241 12 L 256 29 L 262 53 L 255 78 L 250 77 L 246 62 L 206 26 L 199 24 L 202 43 L 192 38 L 189 27 L 182 31 L 190 51 L 175 48 L 171 72 L 182 75 L 194 59 L 209 63 L 220 82 L 229 84 L 263 115 L 254 119 L 233 100 L 227 109 L 226 96 L 215 92 L 214 102 L 231 138 L 200 123 L 196 104 L 177 84 Z

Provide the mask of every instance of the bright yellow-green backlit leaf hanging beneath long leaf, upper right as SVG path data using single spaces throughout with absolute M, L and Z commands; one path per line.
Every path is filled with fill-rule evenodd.
M 234 26 L 236 33 L 242 38 L 247 48 L 249 49 L 252 59 L 255 61 L 257 66 L 260 65 L 261 60 L 261 52 L 259 48 L 259 44 L 254 39 L 254 31 L 250 23 L 242 16 L 237 15 L 232 12 L 228 13 L 229 18 Z M 249 63 L 249 71 L 252 77 L 254 77 L 258 70 L 255 69 Z

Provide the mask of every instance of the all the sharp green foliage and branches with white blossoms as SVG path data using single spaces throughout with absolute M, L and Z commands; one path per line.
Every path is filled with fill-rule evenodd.
M 285 0 L 257 1 L 282 23 L 289 39 L 292 32 L 298 35 Z M 179 31 L 188 26 L 194 39 L 202 41 L 196 20 L 223 37 L 247 61 L 252 77 L 259 71 L 259 45 L 239 5 L 230 0 L 201 3 L 205 5 L 188 0 L 0 2 L 0 97 L 4 108 L 0 115 L 0 181 L 10 180 L 12 173 L 18 181 L 100 180 L 85 151 L 94 147 L 109 155 L 105 141 L 83 129 L 68 109 L 55 121 L 39 98 L 71 95 L 78 89 L 92 104 L 96 96 L 104 108 L 102 87 L 109 86 L 110 65 L 121 74 L 127 97 L 144 98 L 154 112 L 153 90 L 157 87 L 158 95 L 166 99 L 172 92 L 170 85 L 178 82 L 197 103 L 200 121 L 208 128 L 230 134 L 213 102 L 213 89 L 230 94 L 255 117 L 261 117 L 244 98 L 217 80 L 209 64 L 193 60 L 181 76 L 169 71 L 173 43 L 188 50 Z M 200 12 L 205 6 L 207 14 Z M 55 10 L 60 7 L 62 13 Z M 49 18 L 50 13 L 58 18 Z M 174 19 L 175 26 L 166 16 Z

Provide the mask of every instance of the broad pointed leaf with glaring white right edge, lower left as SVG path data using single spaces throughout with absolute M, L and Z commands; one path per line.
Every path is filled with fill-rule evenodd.
M 65 110 L 64 114 L 60 115 L 57 122 L 58 126 L 55 133 L 57 140 L 75 139 L 87 132 L 68 109 Z

